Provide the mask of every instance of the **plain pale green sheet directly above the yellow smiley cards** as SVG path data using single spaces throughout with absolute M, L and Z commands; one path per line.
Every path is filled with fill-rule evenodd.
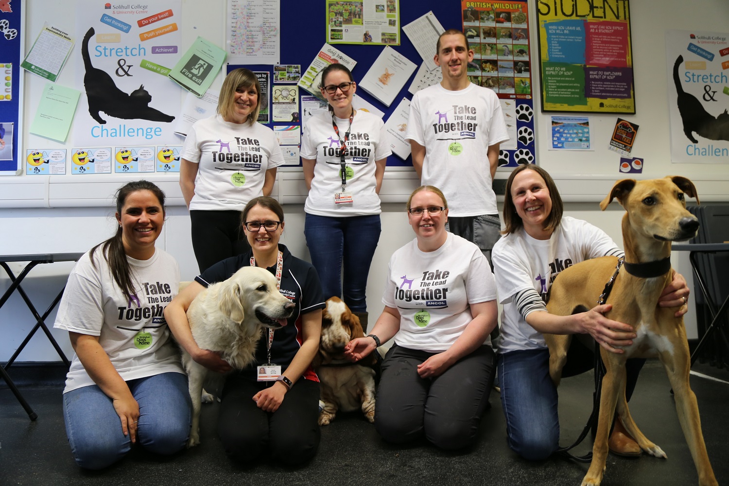
M 46 83 L 31 123 L 31 133 L 65 142 L 80 94 L 79 90 L 70 87 Z

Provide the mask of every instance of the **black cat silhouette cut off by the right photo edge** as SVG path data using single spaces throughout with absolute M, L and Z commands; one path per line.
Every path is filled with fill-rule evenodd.
M 674 63 L 674 83 L 678 95 L 679 113 L 684 125 L 684 133 L 690 141 L 698 144 L 693 132 L 709 140 L 729 141 L 729 114 L 726 110 L 714 118 L 703 108 L 701 101 L 683 90 L 681 78 L 679 77 L 679 66 L 683 62 L 683 56 L 679 55 Z

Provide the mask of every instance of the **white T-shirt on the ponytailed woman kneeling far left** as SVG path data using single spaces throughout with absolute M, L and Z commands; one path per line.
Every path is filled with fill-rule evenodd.
M 98 336 L 101 348 L 125 381 L 184 373 L 163 314 L 179 288 L 177 262 L 158 248 L 148 260 L 129 256 L 127 260 L 137 299 L 129 302 L 124 297 L 99 247 L 94 252 L 95 267 L 87 251 L 71 271 L 53 327 Z M 63 393 L 93 384 L 74 354 Z

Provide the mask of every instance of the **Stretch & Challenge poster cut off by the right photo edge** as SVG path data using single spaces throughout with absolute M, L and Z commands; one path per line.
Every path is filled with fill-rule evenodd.
M 666 32 L 671 162 L 729 163 L 729 33 Z

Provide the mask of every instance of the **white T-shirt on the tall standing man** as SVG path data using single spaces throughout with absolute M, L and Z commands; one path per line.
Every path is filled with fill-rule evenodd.
M 422 184 L 443 191 L 450 216 L 497 214 L 488 146 L 509 140 L 499 97 L 470 84 L 440 84 L 413 95 L 406 140 L 425 147 Z

